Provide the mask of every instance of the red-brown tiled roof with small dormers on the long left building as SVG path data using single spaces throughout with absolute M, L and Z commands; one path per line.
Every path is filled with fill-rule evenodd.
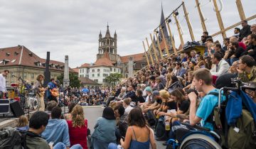
M 9 60 L 9 62 L 3 65 L 3 62 L 1 61 L 4 60 Z M 28 67 L 45 68 L 45 66 L 43 66 L 42 64 L 46 63 L 46 59 L 38 57 L 38 55 L 31 52 L 31 50 L 28 50 L 28 48 L 26 48 L 25 46 L 18 45 L 16 47 L 0 48 L 0 62 L 0 66 L 23 65 Z M 36 65 L 36 62 L 40 62 L 41 65 Z M 49 64 L 53 65 L 53 67 L 49 67 L 50 70 L 64 71 L 64 62 L 50 60 Z M 57 68 L 55 66 L 63 67 L 63 69 Z M 71 68 L 69 69 L 70 72 L 75 72 Z

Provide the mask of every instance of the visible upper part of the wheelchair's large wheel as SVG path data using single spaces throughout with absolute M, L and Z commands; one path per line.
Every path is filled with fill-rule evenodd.
M 220 145 L 210 138 L 209 136 L 203 134 L 193 134 L 186 137 L 180 146 L 181 149 L 220 149 Z

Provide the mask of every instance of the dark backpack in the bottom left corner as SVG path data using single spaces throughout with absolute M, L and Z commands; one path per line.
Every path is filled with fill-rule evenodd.
M 6 127 L 0 131 L 0 149 L 26 149 L 26 133 Z

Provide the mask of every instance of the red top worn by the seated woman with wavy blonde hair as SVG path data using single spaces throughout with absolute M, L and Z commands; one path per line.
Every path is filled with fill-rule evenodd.
M 68 122 L 68 131 L 70 135 L 70 146 L 80 144 L 83 149 L 87 149 L 87 120 L 85 119 L 85 126 L 74 128 L 72 121 Z

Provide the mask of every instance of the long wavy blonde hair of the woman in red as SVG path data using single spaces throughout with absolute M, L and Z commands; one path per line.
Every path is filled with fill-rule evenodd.
M 72 115 L 72 126 L 73 127 L 81 128 L 82 126 L 85 126 L 85 116 L 84 116 L 82 106 L 76 105 L 73 108 L 71 115 Z

